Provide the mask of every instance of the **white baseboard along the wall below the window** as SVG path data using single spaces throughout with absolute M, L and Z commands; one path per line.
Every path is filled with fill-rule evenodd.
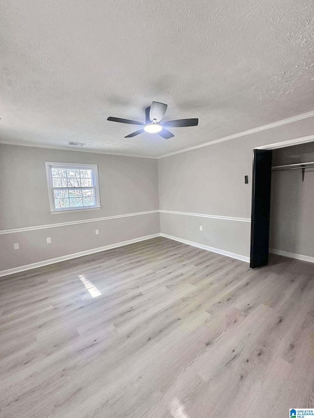
M 8 274 L 19 273 L 25 270 L 36 269 L 37 267 L 48 266 L 49 264 L 59 263 L 60 261 L 71 260 L 72 258 L 82 257 L 83 255 L 94 254 L 95 252 L 106 251 L 107 249 L 117 248 L 120 246 L 127 246 L 129 244 L 138 243 L 140 241 L 150 240 L 152 238 L 160 237 L 160 234 L 146 235 L 145 237 L 134 238 L 133 240 L 123 241 L 121 243 L 110 244 L 108 246 L 102 246 L 98 248 L 88 249 L 86 251 L 76 252 L 75 254 L 63 255 L 61 257 L 51 258 L 50 260 L 39 261 L 38 263 L 26 264 L 25 266 L 14 267 L 13 269 L 7 269 L 0 271 L 0 277 Z

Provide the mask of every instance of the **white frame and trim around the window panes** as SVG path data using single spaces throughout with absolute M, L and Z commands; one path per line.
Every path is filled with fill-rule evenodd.
M 49 196 L 49 204 L 50 204 L 50 213 L 52 215 L 57 213 L 69 213 L 69 212 L 80 212 L 80 211 L 88 211 L 88 210 L 99 210 L 101 209 L 100 205 L 100 196 L 99 196 L 99 182 L 98 182 L 98 167 L 97 164 L 81 164 L 81 163 L 56 163 L 52 161 L 46 161 L 46 174 L 47 174 L 47 184 L 48 184 L 48 196 Z M 88 206 L 88 207 L 73 207 L 73 208 L 56 208 L 54 204 L 54 196 L 53 196 L 53 185 L 52 185 L 52 172 L 51 169 L 54 167 L 58 168 L 77 168 L 77 169 L 91 169 L 93 170 L 93 178 L 95 186 L 95 206 Z

